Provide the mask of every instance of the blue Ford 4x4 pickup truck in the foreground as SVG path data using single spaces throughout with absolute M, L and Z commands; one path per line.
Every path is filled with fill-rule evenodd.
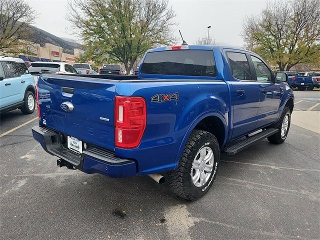
M 285 140 L 294 98 L 287 79 L 243 49 L 150 49 L 137 76 L 41 75 L 36 91 L 50 101 L 37 102 L 32 133 L 60 167 L 147 174 L 194 200 L 213 184 L 220 152 Z

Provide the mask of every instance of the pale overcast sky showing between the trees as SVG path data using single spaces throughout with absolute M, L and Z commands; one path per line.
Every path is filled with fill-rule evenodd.
M 38 13 L 35 26 L 59 37 L 75 38 L 68 34 L 70 23 L 65 19 L 67 0 L 26 0 Z M 174 27 L 178 37 L 181 30 L 184 40 L 192 44 L 198 37 L 210 34 L 217 43 L 242 46 L 239 35 L 242 19 L 246 15 L 256 14 L 268 0 L 169 0 L 176 13 Z

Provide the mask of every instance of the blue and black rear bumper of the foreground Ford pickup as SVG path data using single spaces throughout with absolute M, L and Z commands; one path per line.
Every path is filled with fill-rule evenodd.
M 134 160 L 116 157 L 109 150 L 92 146 L 78 154 L 62 145 L 62 134 L 47 127 L 33 126 L 32 135 L 46 152 L 83 172 L 101 173 L 111 177 L 137 175 Z

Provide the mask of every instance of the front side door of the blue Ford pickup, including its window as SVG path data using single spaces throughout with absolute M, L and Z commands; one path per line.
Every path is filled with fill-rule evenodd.
M 276 83 L 273 72 L 258 56 L 250 55 L 253 65 L 253 79 L 258 82 L 260 89 L 259 108 L 256 128 L 263 127 L 277 119 L 280 99 L 284 87 Z

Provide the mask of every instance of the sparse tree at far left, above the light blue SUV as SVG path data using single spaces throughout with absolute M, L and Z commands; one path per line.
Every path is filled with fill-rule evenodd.
M 36 14 L 23 0 L 0 0 L 0 51 L 21 52 L 21 40 L 30 40 Z

